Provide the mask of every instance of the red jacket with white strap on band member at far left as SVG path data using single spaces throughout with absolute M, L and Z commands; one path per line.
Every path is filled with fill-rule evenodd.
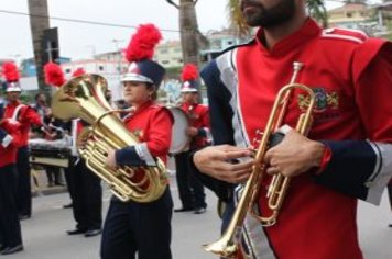
M 42 125 L 41 116 L 34 111 L 34 109 L 22 104 L 21 102 L 7 104 L 4 109 L 4 119 L 11 119 L 13 121 L 18 121 L 21 124 L 21 147 L 28 146 L 31 125 Z

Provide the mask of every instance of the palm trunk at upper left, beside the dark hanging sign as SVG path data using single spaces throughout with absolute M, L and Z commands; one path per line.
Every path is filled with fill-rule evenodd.
M 45 86 L 42 64 L 42 54 L 44 52 L 42 37 L 44 30 L 50 27 L 47 0 L 29 0 L 29 13 L 39 89 L 41 92 L 45 92 L 45 95 L 50 98 L 51 89 Z

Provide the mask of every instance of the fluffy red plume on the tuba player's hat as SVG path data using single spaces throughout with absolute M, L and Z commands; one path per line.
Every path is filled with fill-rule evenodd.
M 161 41 L 162 34 L 154 24 L 143 24 L 138 27 L 126 49 L 129 63 L 152 59 L 155 45 Z

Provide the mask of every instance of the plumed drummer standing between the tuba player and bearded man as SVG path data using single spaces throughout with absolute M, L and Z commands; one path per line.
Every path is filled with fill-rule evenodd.
M 184 66 L 181 89 L 183 102 L 179 108 L 186 113 L 189 121 L 186 134 L 190 138 L 190 144 L 189 150 L 175 155 L 176 179 L 183 206 L 175 209 L 174 212 L 194 211 L 195 214 L 202 214 L 206 212 L 207 207 L 206 194 L 202 182 L 190 170 L 188 159 L 192 150 L 207 145 L 209 135 L 208 108 L 198 103 L 197 77 L 198 71 L 195 65 Z

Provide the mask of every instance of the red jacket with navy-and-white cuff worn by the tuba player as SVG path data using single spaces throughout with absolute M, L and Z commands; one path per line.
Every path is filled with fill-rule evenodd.
M 116 151 L 117 165 L 155 166 L 154 157 L 166 162 L 172 142 L 173 117 L 170 111 L 148 101 L 124 117 L 127 128 L 140 144 Z

